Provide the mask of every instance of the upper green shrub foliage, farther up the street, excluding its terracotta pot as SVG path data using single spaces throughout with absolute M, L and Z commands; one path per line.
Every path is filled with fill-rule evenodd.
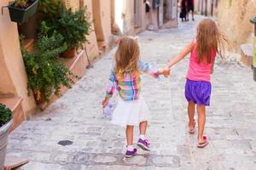
M 50 7 L 48 5 L 51 4 Z M 79 48 L 87 42 L 86 36 L 90 34 L 91 22 L 87 8 L 80 8 L 73 12 L 71 8 L 66 8 L 63 3 L 44 0 L 41 3 L 41 12 L 44 20 L 49 26 L 49 35 L 55 31 L 64 37 L 68 48 Z

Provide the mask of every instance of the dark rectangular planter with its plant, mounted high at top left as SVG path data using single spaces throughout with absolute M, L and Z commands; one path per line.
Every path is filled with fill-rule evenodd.
M 15 0 L 9 6 L 10 19 L 14 22 L 24 23 L 38 8 L 38 0 Z

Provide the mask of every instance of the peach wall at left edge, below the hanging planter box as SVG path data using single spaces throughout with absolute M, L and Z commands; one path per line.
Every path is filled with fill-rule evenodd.
M 0 2 L 0 7 L 8 4 L 9 0 L 2 0 Z M 35 109 L 36 105 L 33 97 L 27 96 L 26 71 L 22 55 L 20 53 L 17 24 L 10 21 L 9 11 L 6 8 L 4 9 L 3 15 L 0 16 L 0 32 L 0 58 L 2 58 L 0 61 L 1 65 L 6 65 L 1 67 L 1 71 L 5 71 L 9 74 L 8 77 L 5 77 L 6 80 L 0 82 L 2 84 L 0 87 L 9 87 L 9 90 L 3 88 L 0 89 L 0 91 L 3 93 L 11 92 L 22 97 L 22 107 L 26 114 L 29 114 Z M 1 80 L 3 78 L 1 78 Z

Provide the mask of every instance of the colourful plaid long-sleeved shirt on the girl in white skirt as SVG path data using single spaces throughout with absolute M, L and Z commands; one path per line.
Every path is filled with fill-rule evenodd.
M 124 74 L 124 76 L 120 77 L 114 73 L 114 70 L 115 67 L 113 67 L 111 70 L 108 79 L 106 98 L 111 98 L 113 96 L 114 90 L 117 89 L 119 96 L 125 101 L 138 99 L 141 92 L 140 72 L 127 72 Z M 154 78 L 159 77 L 159 71 L 152 69 L 148 63 L 144 63 L 143 61 L 139 62 L 139 70 Z

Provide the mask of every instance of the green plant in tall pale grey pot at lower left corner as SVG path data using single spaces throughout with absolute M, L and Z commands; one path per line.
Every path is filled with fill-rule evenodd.
M 9 129 L 12 125 L 12 111 L 0 103 L 0 169 L 3 169 L 8 142 Z

